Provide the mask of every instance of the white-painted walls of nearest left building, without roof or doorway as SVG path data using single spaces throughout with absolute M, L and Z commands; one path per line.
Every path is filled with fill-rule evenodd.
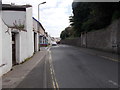
M 3 20 L 9 26 L 12 26 L 15 20 L 17 23 L 21 21 L 25 25 L 27 32 L 20 31 L 16 34 L 16 59 L 21 63 L 26 58 L 31 57 L 34 52 L 34 38 L 33 38 L 33 21 L 32 21 L 32 7 L 24 11 L 3 11 Z M 12 67 L 12 37 L 5 33 L 8 27 L 2 22 L 2 64 L 3 74 L 8 72 Z M 0 35 L 1 36 L 1 35 Z M 0 47 L 1 48 L 1 47 Z

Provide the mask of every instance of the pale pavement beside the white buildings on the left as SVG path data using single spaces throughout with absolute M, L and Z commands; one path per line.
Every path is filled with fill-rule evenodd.
M 28 73 L 45 57 L 46 50 L 37 52 L 29 61 L 16 65 L 13 70 L 3 75 L 2 88 L 15 88 Z

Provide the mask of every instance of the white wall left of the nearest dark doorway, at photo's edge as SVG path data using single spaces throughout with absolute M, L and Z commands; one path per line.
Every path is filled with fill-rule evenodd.
M 12 38 L 11 30 L 5 33 L 8 27 L 2 22 L 2 74 L 12 68 Z

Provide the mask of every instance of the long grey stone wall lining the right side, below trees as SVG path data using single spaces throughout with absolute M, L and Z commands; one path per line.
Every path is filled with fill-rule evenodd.
M 66 39 L 61 42 L 63 44 L 120 53 L 120 19 L 104 29 L 82 33 L 79 38 Z

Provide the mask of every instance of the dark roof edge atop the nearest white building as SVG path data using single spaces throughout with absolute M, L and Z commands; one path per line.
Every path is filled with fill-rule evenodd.
M 31 5 L 2 4 L 2 10 L 26 11 Z

